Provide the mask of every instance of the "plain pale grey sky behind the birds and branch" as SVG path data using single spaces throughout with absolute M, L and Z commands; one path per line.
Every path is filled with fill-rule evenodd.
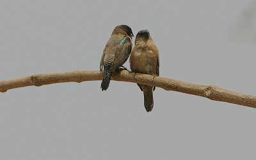
M 255 96 L 255 41 L 234 36 L 252 4 L 2 0 L 0 80 L 99 70 L 114 27 L 127 24 L 150 31 L 160 76 Z M 24 87 L 0 95 L 0 159 L 255 159 L 255 122 L 253 108 L 159 88 L 147 113 L 127 82 Z

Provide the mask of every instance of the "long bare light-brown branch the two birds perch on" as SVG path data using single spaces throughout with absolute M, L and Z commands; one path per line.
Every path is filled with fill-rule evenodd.
M 63 82 L 84 82 L 92 80 L 102 80 L 103 75 L 100 71 L 72 71 L 67 73 L 38 74 L 18 78 L 14 80 L 0 81 L 0 92 L 6 92 L 8 89 L 15 89 L 26 86 L 41 86 Z M 118 71 L 111 75 L 111 80 L 133 82 L 138 84 L 152 85 L 165 89 L 166 91 L 177 91 L 186 94 L 202 96 L 214 101 L 223 101 L 237 105 L 250 106 L 256 108 L 256 97 L 237 92 L 221 89 L 215 85 L 196 85 L 186 82 L 180 82 L 170 78 L 163 78 L 151 75 L 134 73 L 129 71 Z

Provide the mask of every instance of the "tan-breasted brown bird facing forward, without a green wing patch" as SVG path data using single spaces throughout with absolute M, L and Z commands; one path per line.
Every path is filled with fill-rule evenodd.
M 159 76 L 159 54 L 156 44 L 152 40 L 148 30 L 138 32 L 135 46 L 130 57 L 131 70 L 134 73 L 144 73 Z M 154 106 L 153 91 L 156 87 L 138 84 L 144 94 L 144 106 L 147 112 Z

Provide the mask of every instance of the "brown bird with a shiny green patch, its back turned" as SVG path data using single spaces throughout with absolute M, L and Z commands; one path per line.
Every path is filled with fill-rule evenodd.
M 116 26 L 111 34 L 100 61 L 100 71 L 104 66 L 104 78 L 100 87 L 102 91 L 108 89 L 111 73 L 120 67 L 126 69 L 122 65 L 131 54 L 132 37 L 132 29 L 128 25 Z

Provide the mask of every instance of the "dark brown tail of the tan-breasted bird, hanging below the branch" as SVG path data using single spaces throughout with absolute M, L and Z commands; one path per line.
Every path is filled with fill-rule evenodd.
M 153 91 L 151 86 L 143 86 L 144 106 L 147 112 L 151 112 L 154 106 Z

